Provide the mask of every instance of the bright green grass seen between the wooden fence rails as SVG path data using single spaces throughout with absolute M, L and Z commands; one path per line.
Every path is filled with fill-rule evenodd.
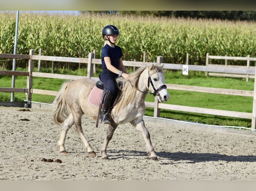
M 23 69 L 18 69 L 23 70 Z M 36 71 L 36 69 L 35 69 Z M 50 72 L 43 70 L 43 72 Z M 80 75 L 86 76 L 87 70 L 61 70 L 58 69 L 56 73 L 70 74 L 70 75 Z M 97 77 L 100 70 L 97 70 Z M 48 79 L 48 78 L 33 78 L 33 88 L 59 91 L 61 84 L 66 80 L 61 79 Z M 11 76 L 0 76 L 0 87 L 11 87 Z M 180 71 L 165 71 L 165 83 L 166 84 L 181 84 L 181 85 L 191 85 L 191 86 L 202 86 L 202 87 L 212 87 L 212 88 L 225 88 L 225 89 L 235 89 L 235 90 L 249 90 L 253 91 L 254 80 L 250 79 L 246 82 L 245 79 L 241 78 L 224 78 L 224 77 L 207 77 L 202 72 L 190 71 L 188 76 L 182 75 Z M 15 88 L 26 87 L 26 77 L 18 76 L 15 78 Z M 189 91 L 177 91 L 168 90 L 170 94 L 170 99 L 166 102 L 167 104 L 175 105 L 185 105 L 194 107 L 204 107 L 212 109 L 222 109 L 240 112 L 252 112 L 253 97 L 246 96 L 236 96 L 236 95 L 219 95 L 219 94 L 208 94 L 208 93 L 197 93 Z M 1 93 L 0 101 L 10 101 L 11 93 Z M 25 100 L 26 95 L 24 93 L 15 93 L 14 100 Z M 39 95 L 33 94 L 32 101 L 52 103 L 55 96 L 50 95 Z M 147 95 L 145 101 L 154 102 L 153 95 Z M 153 116 L 154 109 L 146 108 L 145 115 Z M 225 126 L 242 126 L 251 127 L 251 119 L 243 119 L 236 117 L 224 117 L 217 115 L 207 115 L 199 113 L 181 112 L 161 109 L 160 117 L 170 118 L 176 120 L 184 120 L 191 122 L 198 122 L 211 125 L 225 125 Z

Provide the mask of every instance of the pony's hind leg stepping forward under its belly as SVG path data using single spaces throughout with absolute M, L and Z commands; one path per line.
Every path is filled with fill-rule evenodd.
M 96 156 L 96 153 L 94 152 L 91 144 L 88 142 L 88 140 L 85 138 L 83 129 L 82 129 L 82 124 L 81 124 L 81 118 L 82 118 L 82 111 L 77 112 L 74 116 L 76 116 L 74 118 L 74 122 L 75 122 L 75 126 L 74 129 L 77 131 L 77 133 L 79 134 L 80 138 L 82 139 L 85 148 L 87 149 L 87 152 L 90 156 Z

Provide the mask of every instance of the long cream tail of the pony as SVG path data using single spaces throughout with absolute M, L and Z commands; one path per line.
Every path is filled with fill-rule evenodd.
M 68 118 L 70 114 L 69 107 L 67 106 L 66 99 L 64 96 L 65 90 L 67 89 L 69 82 L 63 83 L 58 95 L 55 97 L 52 108 L 53 121 L 57 125 L 61 125 Z

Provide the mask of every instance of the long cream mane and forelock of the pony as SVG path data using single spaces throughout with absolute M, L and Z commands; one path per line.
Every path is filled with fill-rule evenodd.
M 122 84 L 122 86 L 118 86 L 118 88 L 121 90 L 121 93 L 119 95 L 118 104 L 115 106 L 115 109 L 120 110 L 135 99 L 136 92 L 138 89 L 139 77 L 140 77 L 141 73 L 145 69 L 148 69 L 148 68 L 149 68 L 149 76 L 151 76 L 152 74 L 154 74 L 156 72 L 163 73 L 163 69 L 160 64 L 154 65 L 152 63 L 152 64 L 150 64 L 150 66 L 141 67 L 141 68 L 137 69 L 135 72 L 131 73 L 130 74 L 131 78 L 129 81 L 123 77 L 118 77 L 116 79 L 117 84 Z

